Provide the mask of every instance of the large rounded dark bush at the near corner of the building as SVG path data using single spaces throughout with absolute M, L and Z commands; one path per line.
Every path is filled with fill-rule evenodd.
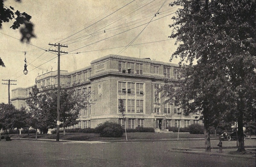
M 121 137 L 123 136 L 123 128 L 116 122 L 106 121 L 95 127 L 95 133 L 102 137 Z

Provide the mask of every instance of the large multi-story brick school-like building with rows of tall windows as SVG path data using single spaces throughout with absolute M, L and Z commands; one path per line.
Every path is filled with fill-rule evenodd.
M 177 64 L 153 61 L 146 58 L 134 58 L 119 55 L 107 55 L 91 62 L 91 66 L 68 73 L 60 71 L 61 86 L 76 83 L 77 91 L 93 91 L 94 104 L 81 110 L 79 123 L 74 127 L 96 127 L 104 121 L 116 121 L 124 126 L 122 114 L 118 110 L 123 100 L 126 128 L 188 127 L 193 123 L 202 123 L 200 113 L 185 116 L 180 106 L 165 103 L 167 96 L 157 91 L 164 80 L 174 82 L 180 78 Z M 36 78 L 37 87 L 57 84 L 57 72 L 48 72 Z M 26 106 L 32 87 L 12 90 L 12 104 L 17 108 Z M 70 127 L 68 127 L 70 128 Z M 72 127 L 71 127 L 72 128 Z

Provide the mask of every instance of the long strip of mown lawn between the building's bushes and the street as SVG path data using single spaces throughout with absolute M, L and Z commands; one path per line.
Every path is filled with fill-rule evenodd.
M 10 134 L 11 139 L 18 138 L 18 134 Z M 212 136 L 214 137 L 214 136 Z M 21 134 L 20 138 L 29 138 L 35 139 L 36 134 Z M 166 141 L 170 139 L 177 139 L 178 133 L 150 133 L 150 132 L 134 132 L 127 133 L 128 140 L 136 141 L 136 140 L 145 140 L 145 141 Z M 196 139 L 196 138 L 204 138 L 204 134 L 189 134 L 189 133 L 179 133 L 179 139 Z M 56 134 L 38 134 L 37 139 L 56 139 Z M 60 140 L 74 140 L 74 141 L 116 141 L 117 140 L 126 140 L 125 133 L 122 137 L 100 137 L 99 134 L 94 133 L 66 133 L 63 135 L 60 133 Z

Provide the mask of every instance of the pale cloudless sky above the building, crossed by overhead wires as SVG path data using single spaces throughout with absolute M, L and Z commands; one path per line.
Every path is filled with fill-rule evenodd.
M 17 80 L 10 90 L 35 84 L 38 75 L 57 70 L 57 50 L 49 43 L 68 45 L 60 50 L 60 69 L 72 72 L 108 54 L 151 58 L 169 62 L 177 46 L 172 33 L 173 0 L 6 0 L 4 5 L 26 12 L 34 24 L 36 38 L 21 42 L 13 21 L 0 29 L 0 79 Z M 157 14 L 158 13 L 158 14 Z M 156 16 L 155 16 L 156 14 Z M 105 32 L 104 32 L 105 31 Z M 24 58 L 28 74 L 24 75 Z M 76 54 L 78 53 L 78 54 Z M 172 63 L 178 63 L 174 59 Z M 2 81 L 2 83 L 8 83 Z M 12 98 L 12 92 L 11 98 Z M 8 85 L 0 84 L 0 103 L 8 103 Z

